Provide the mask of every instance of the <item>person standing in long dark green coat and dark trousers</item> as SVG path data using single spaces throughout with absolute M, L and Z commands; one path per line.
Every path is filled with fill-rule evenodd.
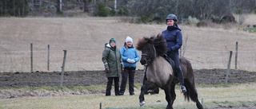
M 105 44 L 105 49 L 102 53 L 102 61 L 106 69 L 106 96 L 111 95 L 111 86 L 114 80 L 114 93 L 119 95 L 119 76 L 124 71 L 122 56 L 120 50 L 116 47 L 114 38 L 110 39 L 109 44 Z

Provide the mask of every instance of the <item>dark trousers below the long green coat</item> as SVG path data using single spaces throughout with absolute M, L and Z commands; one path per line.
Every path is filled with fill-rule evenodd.
M 114 80 L 114 94 L 119 95 L 119 77 L 108 77 L 106 84 L 106 95 L 111 95 L 111 88 Z

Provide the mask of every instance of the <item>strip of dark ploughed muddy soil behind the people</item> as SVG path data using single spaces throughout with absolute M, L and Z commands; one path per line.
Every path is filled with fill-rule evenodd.
M 225 84 L 226 69 L 194 69 L 196 84 Z M 141 84 L 143 71 L 137 70 L 135 73 L 135 84 Z M 38 87 L 38 86 L 58 86 L 61 80 L 61 72 L 1 72 L 0 88 L 5 87 Z M 120 79 L 121 80 L 121 79 Z M 103 71 L 78 71 L 65 72 L 63 86 L 90 84 L 106 84 L 106 75 Z M 255 82 L 256 72 L 246 72 L 241 70 L 230 70 L 228 84 Z

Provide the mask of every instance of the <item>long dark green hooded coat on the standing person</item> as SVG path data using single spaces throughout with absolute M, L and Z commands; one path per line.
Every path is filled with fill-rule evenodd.
M 115 46 L 112 49 L 109 44 L 105 44 L 105 49 L 102 53 L 102 61 L 105 69 L 110 68 L 110 73 L 106 73 L 107 77 L 119 77 L 124 68 L 122 63 L 122 55 L 120 50 Z

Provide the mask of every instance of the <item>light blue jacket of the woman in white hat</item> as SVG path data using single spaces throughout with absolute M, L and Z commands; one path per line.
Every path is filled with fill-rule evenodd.
M 136 62 L 140 60 L 140 56 L 138 54 L 138 51 L 132 46 L 129 49 L 126 49 L 126 46 L 123 46 L 120 50 L 120 53 L 122 55 L 122 61 L 125 67 L 133 67 L 136 68 Z M 131 64 L 127 62 L 127 59 L 130 58 L 130 60 L 135 60 L 135 63 Z

